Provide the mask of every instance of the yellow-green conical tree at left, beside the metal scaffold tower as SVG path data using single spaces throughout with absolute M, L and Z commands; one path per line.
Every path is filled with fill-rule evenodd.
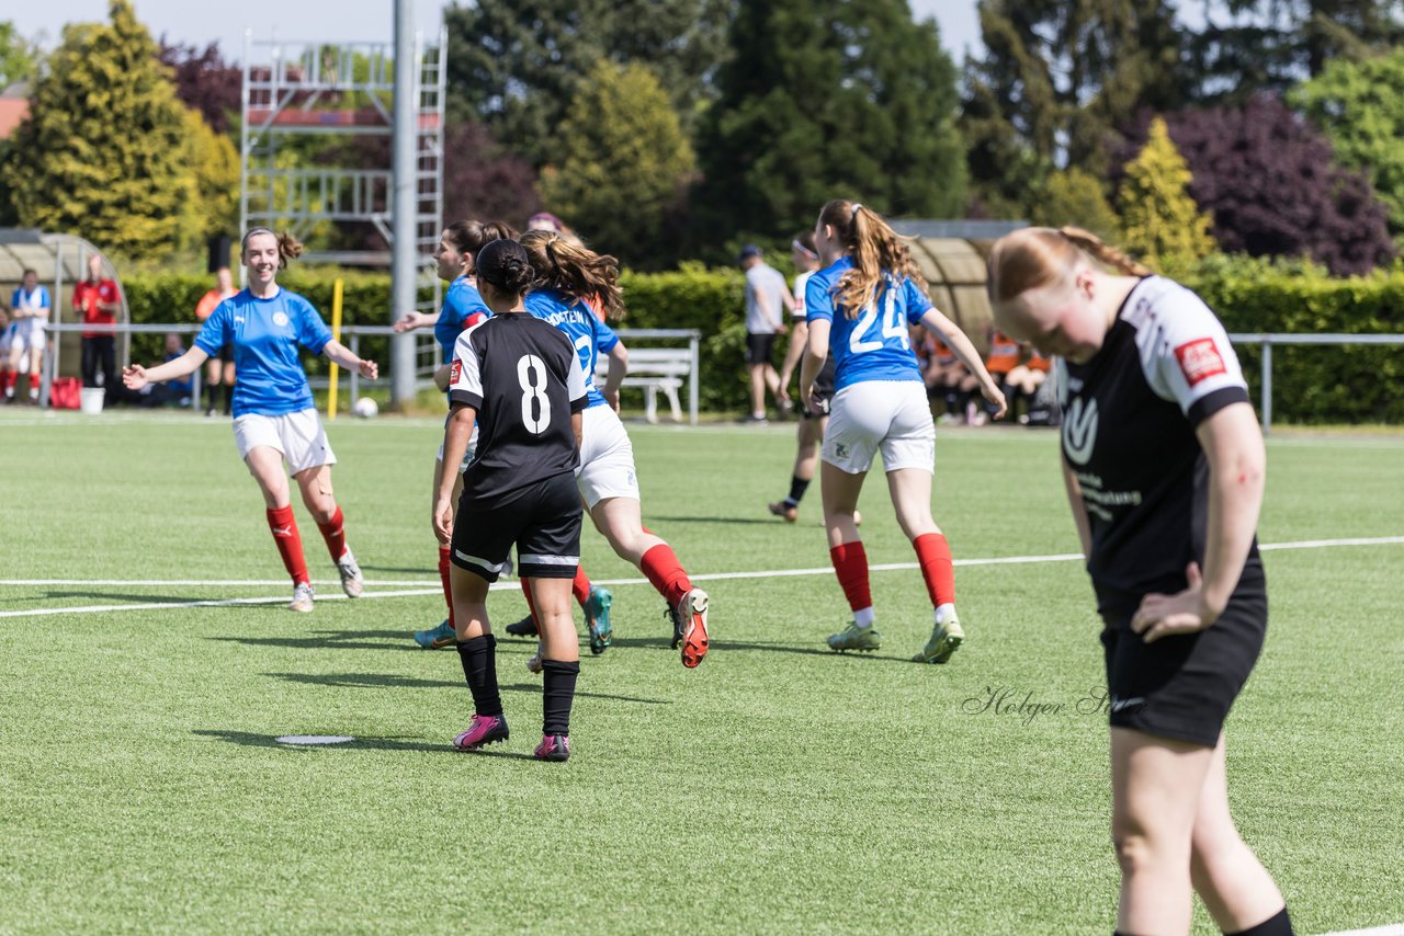
M 111 22 L 65 28 L 4 167 L 22 225 L 132 257 L 198 233 L 185 111 L 156 55 L 129 0 L 111 0 Z

